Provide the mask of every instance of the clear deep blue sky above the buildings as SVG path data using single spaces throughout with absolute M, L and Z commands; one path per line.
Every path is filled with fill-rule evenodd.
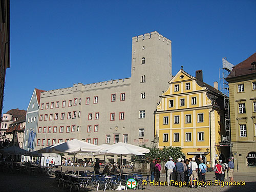
M 27 109 L 34 88 L 131 77 L 132 37 L 158 31 L 180 66 L 208 84 L 222 58 L 256 51 L 256 1 L 18 1 L 10 3 L 11 68 L 3 113 Z

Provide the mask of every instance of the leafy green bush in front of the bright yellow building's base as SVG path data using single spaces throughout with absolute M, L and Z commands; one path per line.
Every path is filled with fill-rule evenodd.
M 153 159 L 168 161 L 169 157 L 172 157 L 174 160 L 185 157 L 181 151 L 181 147 L 164 146 L 162 149 L 156 147 L 146 147 L 145 145 L 142 147 L 148 148 L 150 153 L 145 154 L 144 156 L 132 155 L 132 162 L 145 161 L 150 163 Z

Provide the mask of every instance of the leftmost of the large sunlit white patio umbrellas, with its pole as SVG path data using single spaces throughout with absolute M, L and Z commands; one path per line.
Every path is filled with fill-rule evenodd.
M 94 153 L 101 149 L 102 149 L 101 146 L 80 141 L 77 139 L 73 139 L 65 143 L 61 143 L 57 146 L 51 147 L 48 150 L 48 153 L 67 153 L 67 154 L 72 153 L 75 160 L 75 155 L 77 153 L 90 153 L 90 152 Z M 75 173 L 75 163 L 73 164 L 73 172 Z

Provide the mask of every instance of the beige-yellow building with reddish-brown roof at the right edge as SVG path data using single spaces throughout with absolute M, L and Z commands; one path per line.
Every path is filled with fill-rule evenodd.
M 239 172 L 256 171 L 256 53 L 233 67 L 229 83 L 231 143 Z

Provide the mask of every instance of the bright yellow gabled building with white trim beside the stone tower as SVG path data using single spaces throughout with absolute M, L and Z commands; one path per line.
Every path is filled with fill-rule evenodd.
M 203 82 L 202 70 L 196 78 L 183 68 L 169 81 L 155 112 L 155 136 L 159 148 L 179 146 L 186 158 L 202 156 L 207 167 L 221 155 L 224 130 L 223 96 Z M 227 158 L 227 157 L 226 157 Z M 210 161 L 211 159 L 211 161 Z

